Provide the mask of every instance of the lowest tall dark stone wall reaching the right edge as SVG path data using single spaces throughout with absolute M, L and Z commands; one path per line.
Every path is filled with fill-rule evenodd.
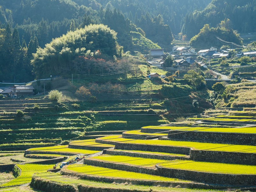
M 256 175 L 206 173 L 156 166 L 161 176 L 224 185 L 255 185 Z

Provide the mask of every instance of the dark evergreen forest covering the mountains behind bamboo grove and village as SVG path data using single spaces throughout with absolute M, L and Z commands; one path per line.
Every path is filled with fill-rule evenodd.
M 33 80 L 40 73 L 30 63 L 37 48 L 89 24 L 114 30 L 124 52 L 147 54 L 160 47 L 171 51 L 174 37 L 189 40 L 205 24 L 223 34 L 220 38 L 241 44 L 234 31 L 217 27 L 229 18 L 238 33 L 254 32 L 255 8 L 256 0 L 0 0 L 0 82 Z

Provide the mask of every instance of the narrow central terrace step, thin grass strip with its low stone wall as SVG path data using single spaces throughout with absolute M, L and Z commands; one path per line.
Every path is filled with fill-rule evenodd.
M 149 152 L 150 153 L 150 152 Z M 104 149 L 103 154 L 108 155 L 121 155 L 121 156 L 130 156 L 130 157 L 141 157 L 141 158 L 150 158 L 150 159 L 161 159 L 161 160 L 175 160 L 175 159 L 184 159 L 188 160 L 189 157 L 181 157 L 181 156 L 172 156 L 172 155 L 161 155 L 161 154 L 149 154 L 149 153 L 138 153 L 132 151 L 118 151 L 114 149 Z

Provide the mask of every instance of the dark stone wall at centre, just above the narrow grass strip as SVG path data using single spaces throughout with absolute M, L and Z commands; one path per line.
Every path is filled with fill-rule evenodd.
M 189 155 L 191 150 L 191 148 L 188 148 L 188 147 L 145 145 L 145 144 L 133 144 L 133 143 L 116 143 L 115 149 L 163 152 L 163 153 L 174 153 L 174 154 L 184 154 L 184 155 Z

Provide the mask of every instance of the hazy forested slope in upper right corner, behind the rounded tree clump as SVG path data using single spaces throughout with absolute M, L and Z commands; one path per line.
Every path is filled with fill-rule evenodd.
M 212 0 L 204 10 L 195 10 L 193 14 L 186 15 L 181 32 L 191 38 L 204 24 L 217 27 L 225 18 L 230 19 L 231 27 L 239 33 L 255 32 L 255 14 L 255 0 Z

